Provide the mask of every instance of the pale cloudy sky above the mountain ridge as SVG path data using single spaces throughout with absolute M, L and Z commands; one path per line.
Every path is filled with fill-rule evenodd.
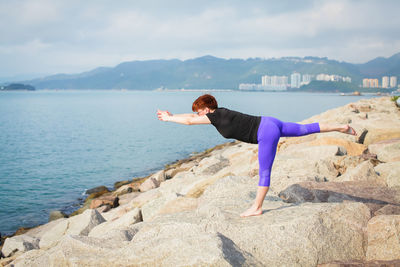
M 0 0 L 0 77 L 123 61 L 400 52 L 397 0 Z

